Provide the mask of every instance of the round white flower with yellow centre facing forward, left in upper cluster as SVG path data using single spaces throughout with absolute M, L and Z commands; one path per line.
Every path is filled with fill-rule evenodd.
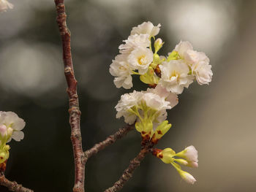
M 145 74 L 153 61 L 153 53 L 148 48 L 138 47 L 128 56 L 128 61 L 132 69 L 138 69 L 140 74 Z

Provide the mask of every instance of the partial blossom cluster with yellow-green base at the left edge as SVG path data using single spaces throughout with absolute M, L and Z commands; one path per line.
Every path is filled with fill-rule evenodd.
M 0 164 L 9 158 L 10 146 L 6 145 L 7 142 L 12 139 L 19 142 L 24 138 L 24 133 L 21 131 L 24 126 L 24 120 L 15 112 L 0 111 Z

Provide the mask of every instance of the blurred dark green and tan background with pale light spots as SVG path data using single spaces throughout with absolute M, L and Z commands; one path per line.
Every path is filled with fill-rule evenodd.
M 25 138 L 10 142 L 7 178 L 35 191 L 71 191 L 74 178 L 61 39 L 53 0 L 10 0 L 0 13 L 0 110 L 26 121 Z M 122 191 L 256 191 L 256 1 L 67 0 L 72 57 L 78 80 L 83 147 L 124 126 L 116 119 L 121 94 L 108 72 L 133 26 L 162 24 L 167 55 L 180 40 L 206 53 L 210 85 L 193 83 L 168 112 L 173 128 L 157 145 L 181 151 L 195 145 L 199 168 L 184 170 L 148 155 Z M 146 90 L 134 79 L 135 90 Z M 140 150 L 136 131 L 91 158 L 86 190 L 104 191 Z M 0 187 L 0 191 L 7 191 Z

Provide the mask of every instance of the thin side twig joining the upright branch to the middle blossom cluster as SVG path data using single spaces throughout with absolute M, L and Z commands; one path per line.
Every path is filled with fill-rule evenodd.
M 119 128 L 115 134 L 110 135 L 104 141 L 99 142 L 98 144 L 94 145 L 94 147 L 91 147 L 91 149 L 86 150 L 84 152 L 84 157 L 85 157 L 84 162 L 86 163 L 86 161 L 92 155 L 97 154 L 100 150 L 103 150 L 103 149 L 105 149 L 105 147 L 108 147 L 109 145 L 113 144 L 114 142 L 116 142 L 117 139 L 121 139 L 122 137 L 124 137 L 132 129 L 134 129 L 134 125 L 129 126 L 127 124 L 127 126 L 125 126 L 124 128 Z

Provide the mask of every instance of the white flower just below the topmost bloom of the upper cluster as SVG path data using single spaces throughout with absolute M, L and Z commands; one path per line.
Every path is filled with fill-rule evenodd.
M 125 44 L 120 45 L 118 48 L 120 53 L 131 53 L 132 50 L 135 50 L 138 47 L 149 47 L 151 44 L 148 34 L 135 34 L 128 37 L 127 40 L 124 40 Z

